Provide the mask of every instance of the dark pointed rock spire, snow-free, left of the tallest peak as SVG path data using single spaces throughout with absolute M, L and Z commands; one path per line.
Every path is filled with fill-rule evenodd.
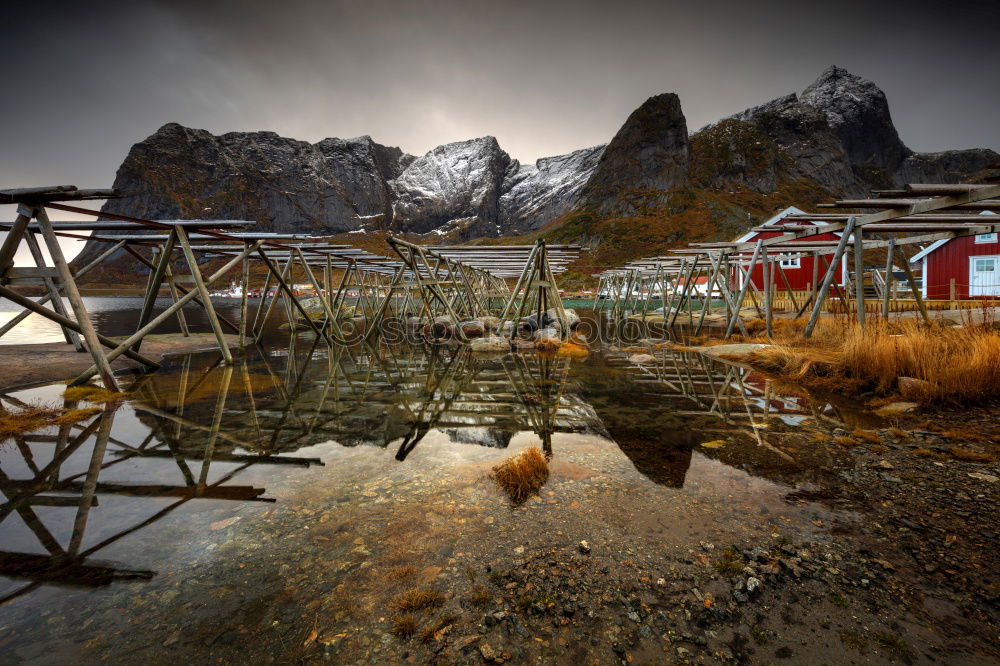
M 680 99 L 674 93 L 650 97 L 604 149 L 580 205 L 621 215 L 660 205 L 664 193 L 687 183 L 690 161 Z

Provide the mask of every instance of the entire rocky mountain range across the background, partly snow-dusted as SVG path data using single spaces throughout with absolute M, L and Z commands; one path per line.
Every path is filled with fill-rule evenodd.
M 801 94 L 693 134 L 677 95 L 656 95 L 606 146 L 523 165 L 490 136 L 414 157 L 368 136 L 310 144 L 171 123 L 132 147 L 114 183 L 127 196 L 105 210 L 435 242 L 544 233 L 589 242 L 599 250 L 592 258 L 617 261 L 732 236 L 783 205 L 957 182 L 998 162 L 986 149 L 910 150 L 878 86 L 830 67 Z

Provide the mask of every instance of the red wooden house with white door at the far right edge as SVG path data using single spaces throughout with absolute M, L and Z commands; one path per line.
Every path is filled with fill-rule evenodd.
M 995 213 L 985 211 L 983 215 Z M 936 241 L 913 255 L 910 263 L 922 269 L 924 298 L 1000 297 L 1000 239 L 996 232 Z

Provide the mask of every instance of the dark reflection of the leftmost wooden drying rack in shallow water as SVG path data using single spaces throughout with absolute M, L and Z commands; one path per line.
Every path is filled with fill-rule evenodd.
M 222 369 L 227 377 L 232 374 L 232 366 Z M 181 384 L 181 390 L 187 390 L 187 374 Z M 224 382 L 228 386 L 228 381 Z M 218 412 L 224 408 L 226 392 L 220 393 L 217 403 Z M 24 408 L 23 402 L 10 395 L 0 394 L 0 408 L 3 403 Z M 183 401 L 180 403 L 183 404 Z M 73 409 L 76 403 L 67 402 L 65 407 Z M 65 585 L 102 586 L 116 580 L 148 579 L 155 575 L 153 571 L 133 570 L 107 563 L 94 563 L 90 559 L 112 543 L 136 532 L 147 525 L 163 518 L 174 509 L 194 499 L 273 502 L 273 499 L 263 497 L 264 488 L 248 485 L 232 485 L 229 482 L 247 468 L 257 464 L 293 464 L 309 466 L 322 464 L 315 458 L 290 458 L 284 456 L 232 454 L 216 452 L 215 442 L 220 432 L 221 422 L 216 420 L 209 431 L 211 435 L 205 447 L 197 452 L 185 450 L 180 446 L 182 430 L 191 424 L 178 417 L 179 420 L 162 419 L 163 428 L 154 429 L 140 444 L 132 446 L 112 436 L 112 425 L 116 407 L 108 406 L 100 414 L 93 417 L 89 423 L 62 425 L 55 433 L 48 430 L 15 436 L 14 442 L 20 455 L 20 463 L 32 473 L 30 479 L 13 479 L 0 465 L 0 492 L 6 501 L 0 504 L 0 522 L 16 515 L 34 534 L 38 543 L 46 551 L 44 555 L 3 552 L 0 551 L 0 575 L 14 579 L 30 581 L 6 596 L 0 598 L 0 604 L 10 601 L 30 592 L 46 583 Z M 170 427 L 167 427 L 167 426 Z M 173 437 L 157 440 L 156 435 L 168 432 Z M 156 440 L 156 441 L 155 441 Z M 154 443 L 155 441 L 155 443 Z M 84 445 L 91 442 L 93 448 L 86 471 L 77 472 L 66 477 L 61 476 L 62 468 L 69 458 L 80 451 Z M 42 464 L 36 459 L 33 447 L 51 445 L 52 454 L 48 462 Z M 109 459 L 110 456 L 110 459 Z M 162 483 L 123 483 L 102 482 L 101 473 L 126 460 L 140 457 L 168 458 L 177 465 L 182 485 Z M 201 460 L 201 470 L 198 478 L 187 465 L 188 459 Z M 212 462 L 236 463 L 236 467 L 214 482 L 209 482 L 209 468 Z M 100 495 L 120 495 L 139 498 L 164 498 L 175 500 L 166 507 L 156 511 L 152 516 L 104 538 L 100 542 L 83 547 L 83 538 L 87 529 L 91 511 L 100 506 Z M 67 546 L 46 527 L 35 513 L 33 507 L 75 508 L 76 516 Z

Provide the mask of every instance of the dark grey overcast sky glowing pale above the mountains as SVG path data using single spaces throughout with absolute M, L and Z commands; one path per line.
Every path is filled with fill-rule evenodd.
M 530 161 L 608 141 L 650 95 L 693 131 L 830 64 L 886 91 L 913 149 L 1000 149 L 995 0 L 10 4 L 0 187 L 110 186 L 171 121 L 414 154 L 492 134 Z

